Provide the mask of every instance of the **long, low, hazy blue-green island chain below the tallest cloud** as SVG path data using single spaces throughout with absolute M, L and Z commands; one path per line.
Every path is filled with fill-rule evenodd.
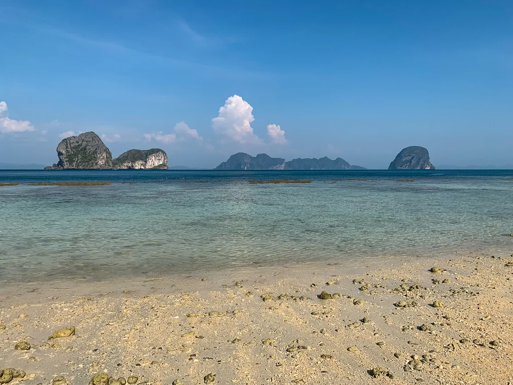
M 324 158 L 297 158 L 285 162 L 283 158 L 271 158 L 265 153 L 256 157 L 245 152 L 233 154 L 226 162 L 215 167 L 216 170 L 366 170 L 365 167 L 350 165 L 342 158 L 331 160 Z

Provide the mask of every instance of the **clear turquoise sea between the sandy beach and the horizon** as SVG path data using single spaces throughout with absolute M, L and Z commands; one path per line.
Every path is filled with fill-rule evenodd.
M 270 179 L 312 183 L 248 183 Z M 56 181 L 113 184 L 26 185 Z M 0 187 L 0 282 L 513 252 L 511 170 L 0 171 L 6 182 L 20 185 Z

